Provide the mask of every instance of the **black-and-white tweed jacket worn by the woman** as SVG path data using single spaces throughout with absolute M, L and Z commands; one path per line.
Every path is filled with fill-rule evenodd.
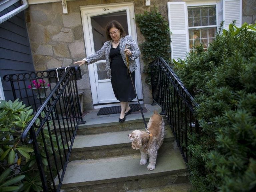
M 101 49 L 94 54 L 90 55 L 89 57 L 86 57 L 83 60 L 86 60 L 88 64 L 94 63 L 99 60 L 106 59 L 106 71 L 107 71 L 107 76 L 108 78 L 111 79 L 111 69 L 110 69 L 110 57 L 109 57 L 109 52 L 112 47 L 112 42 L 113 40 L 106 41 L 104 45 L 101 47 Z M 132 56 L 129 56 L 129 70 L 131 72 L 135 71 L 137 69 L 137 64 L 135 62 L 135 59 L 139 57 L 140 55 L 140 49 L 132 36 L 126 35 L 125 37 L 120 38 L 120 43 L 119 43 L 119 48 L 120 48 L 120 53 L 122 55 L 124 64 L 127 67 L 127 61 L 126 61 L 126 55 L 125 55 L 125 45 L 129 45 L 129 49 L 132 52 Z

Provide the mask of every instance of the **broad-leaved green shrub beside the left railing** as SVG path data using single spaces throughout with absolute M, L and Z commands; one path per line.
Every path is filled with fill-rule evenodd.
M 33 146 L 31 144 L 23 145 L 20 140 L 21 132 L 33 118 L 33 110 L 30 108 L 31 106 L 26 107 L 18 99 L 14 102 L 1 100 L 0 191 L 29 192 L 43 190 Z M 47 133 L 47 131 L 44 131 L 45 137 L 48 136 Z M 41 136 L 38 137 L 38 141 L 40 142 L 41 140 Z M 46 144 L 50 145 L 49 139 L 46 139 Z M 39 149 L 42 155 L 42 162 L 46 167 L 48 165 L 46 155 L 40 143 Z

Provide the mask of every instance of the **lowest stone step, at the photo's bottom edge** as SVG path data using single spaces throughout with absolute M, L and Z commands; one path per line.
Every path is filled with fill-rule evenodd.
M 174 185 L 166 185 L 160 187 L 146 188 L 146 189 L 135 189 L 127 192 L 187 192 L 192 188 L 191 183 L 180 183 Z

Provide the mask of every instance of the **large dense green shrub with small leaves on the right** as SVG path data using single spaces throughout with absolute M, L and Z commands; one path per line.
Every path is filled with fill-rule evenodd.
M 199 104 L 190 135 L 192 191 L 256 191 L 256 29 L 220 26 L 215 40 L 175 62 Z

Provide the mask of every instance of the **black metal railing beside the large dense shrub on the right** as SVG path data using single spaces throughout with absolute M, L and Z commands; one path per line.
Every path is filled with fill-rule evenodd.
M 171 67 L 158 58 L 150 63 L 153 103 L 162 107 L 185 162 L 189 161 L 188 133 L 199 133 L 197 103 Z

